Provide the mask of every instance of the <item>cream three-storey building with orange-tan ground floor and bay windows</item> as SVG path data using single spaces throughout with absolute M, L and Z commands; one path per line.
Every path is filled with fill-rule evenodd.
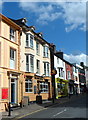
M 22 20 L 19 22 L 22 24 Z M 34 32 L 34 26 L 28 27 L 26 23 L 24 26 L 25 28 L 21 26 L 23 31 L 20 46 L 20 70 L 23 74 L 21 76 L 22 95 L 20 99 L 22 100 L 27 96 L 30 101 L 36 101 L 39 92 L 43 100 L 51 99 L 49 43 L 43 39 L 41 33 Z

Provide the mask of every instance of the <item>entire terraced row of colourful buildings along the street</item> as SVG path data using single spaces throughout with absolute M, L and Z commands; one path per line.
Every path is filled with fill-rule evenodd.
M 0 14 L 0 103 L 19 105 L 26 97 L 36 101 L 83 92 L 85 70 L 63 59 L 43 34 L 26 25 L 25 18 L 14 20 Z

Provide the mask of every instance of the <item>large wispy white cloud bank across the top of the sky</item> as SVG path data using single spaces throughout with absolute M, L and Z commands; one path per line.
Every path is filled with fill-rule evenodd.
M 86 2 L 23 2 L 19 6 L 26 12 L 36 16 L 39 24 L 48 24 L 62 19 L 66 25 L 66 32 L 74 29 L 86 29 Z

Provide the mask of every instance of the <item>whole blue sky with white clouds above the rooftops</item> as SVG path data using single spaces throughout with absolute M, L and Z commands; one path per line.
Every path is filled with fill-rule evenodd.
M 42 1 L 42 0 L 41 0 Z M 86 62 L 86 2 L 0 2 L 2 14 L 26 18 L 69 62 Z

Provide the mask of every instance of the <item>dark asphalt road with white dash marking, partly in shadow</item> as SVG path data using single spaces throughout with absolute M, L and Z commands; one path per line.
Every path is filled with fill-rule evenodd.
M 81 95 L 71 101 L 56 104 L 54 106 L 48 107 L 42 111 L 33 113 L 31 115 L 25 116 L 24 119 L 29 118 L 40 118 L 39 120 L 49 118 L 88 118 L 88 98 L 87 95 Z M 22 118 L 21 118 L 22 119 Z M 33 119 L 34 120 L 34 119 Z

